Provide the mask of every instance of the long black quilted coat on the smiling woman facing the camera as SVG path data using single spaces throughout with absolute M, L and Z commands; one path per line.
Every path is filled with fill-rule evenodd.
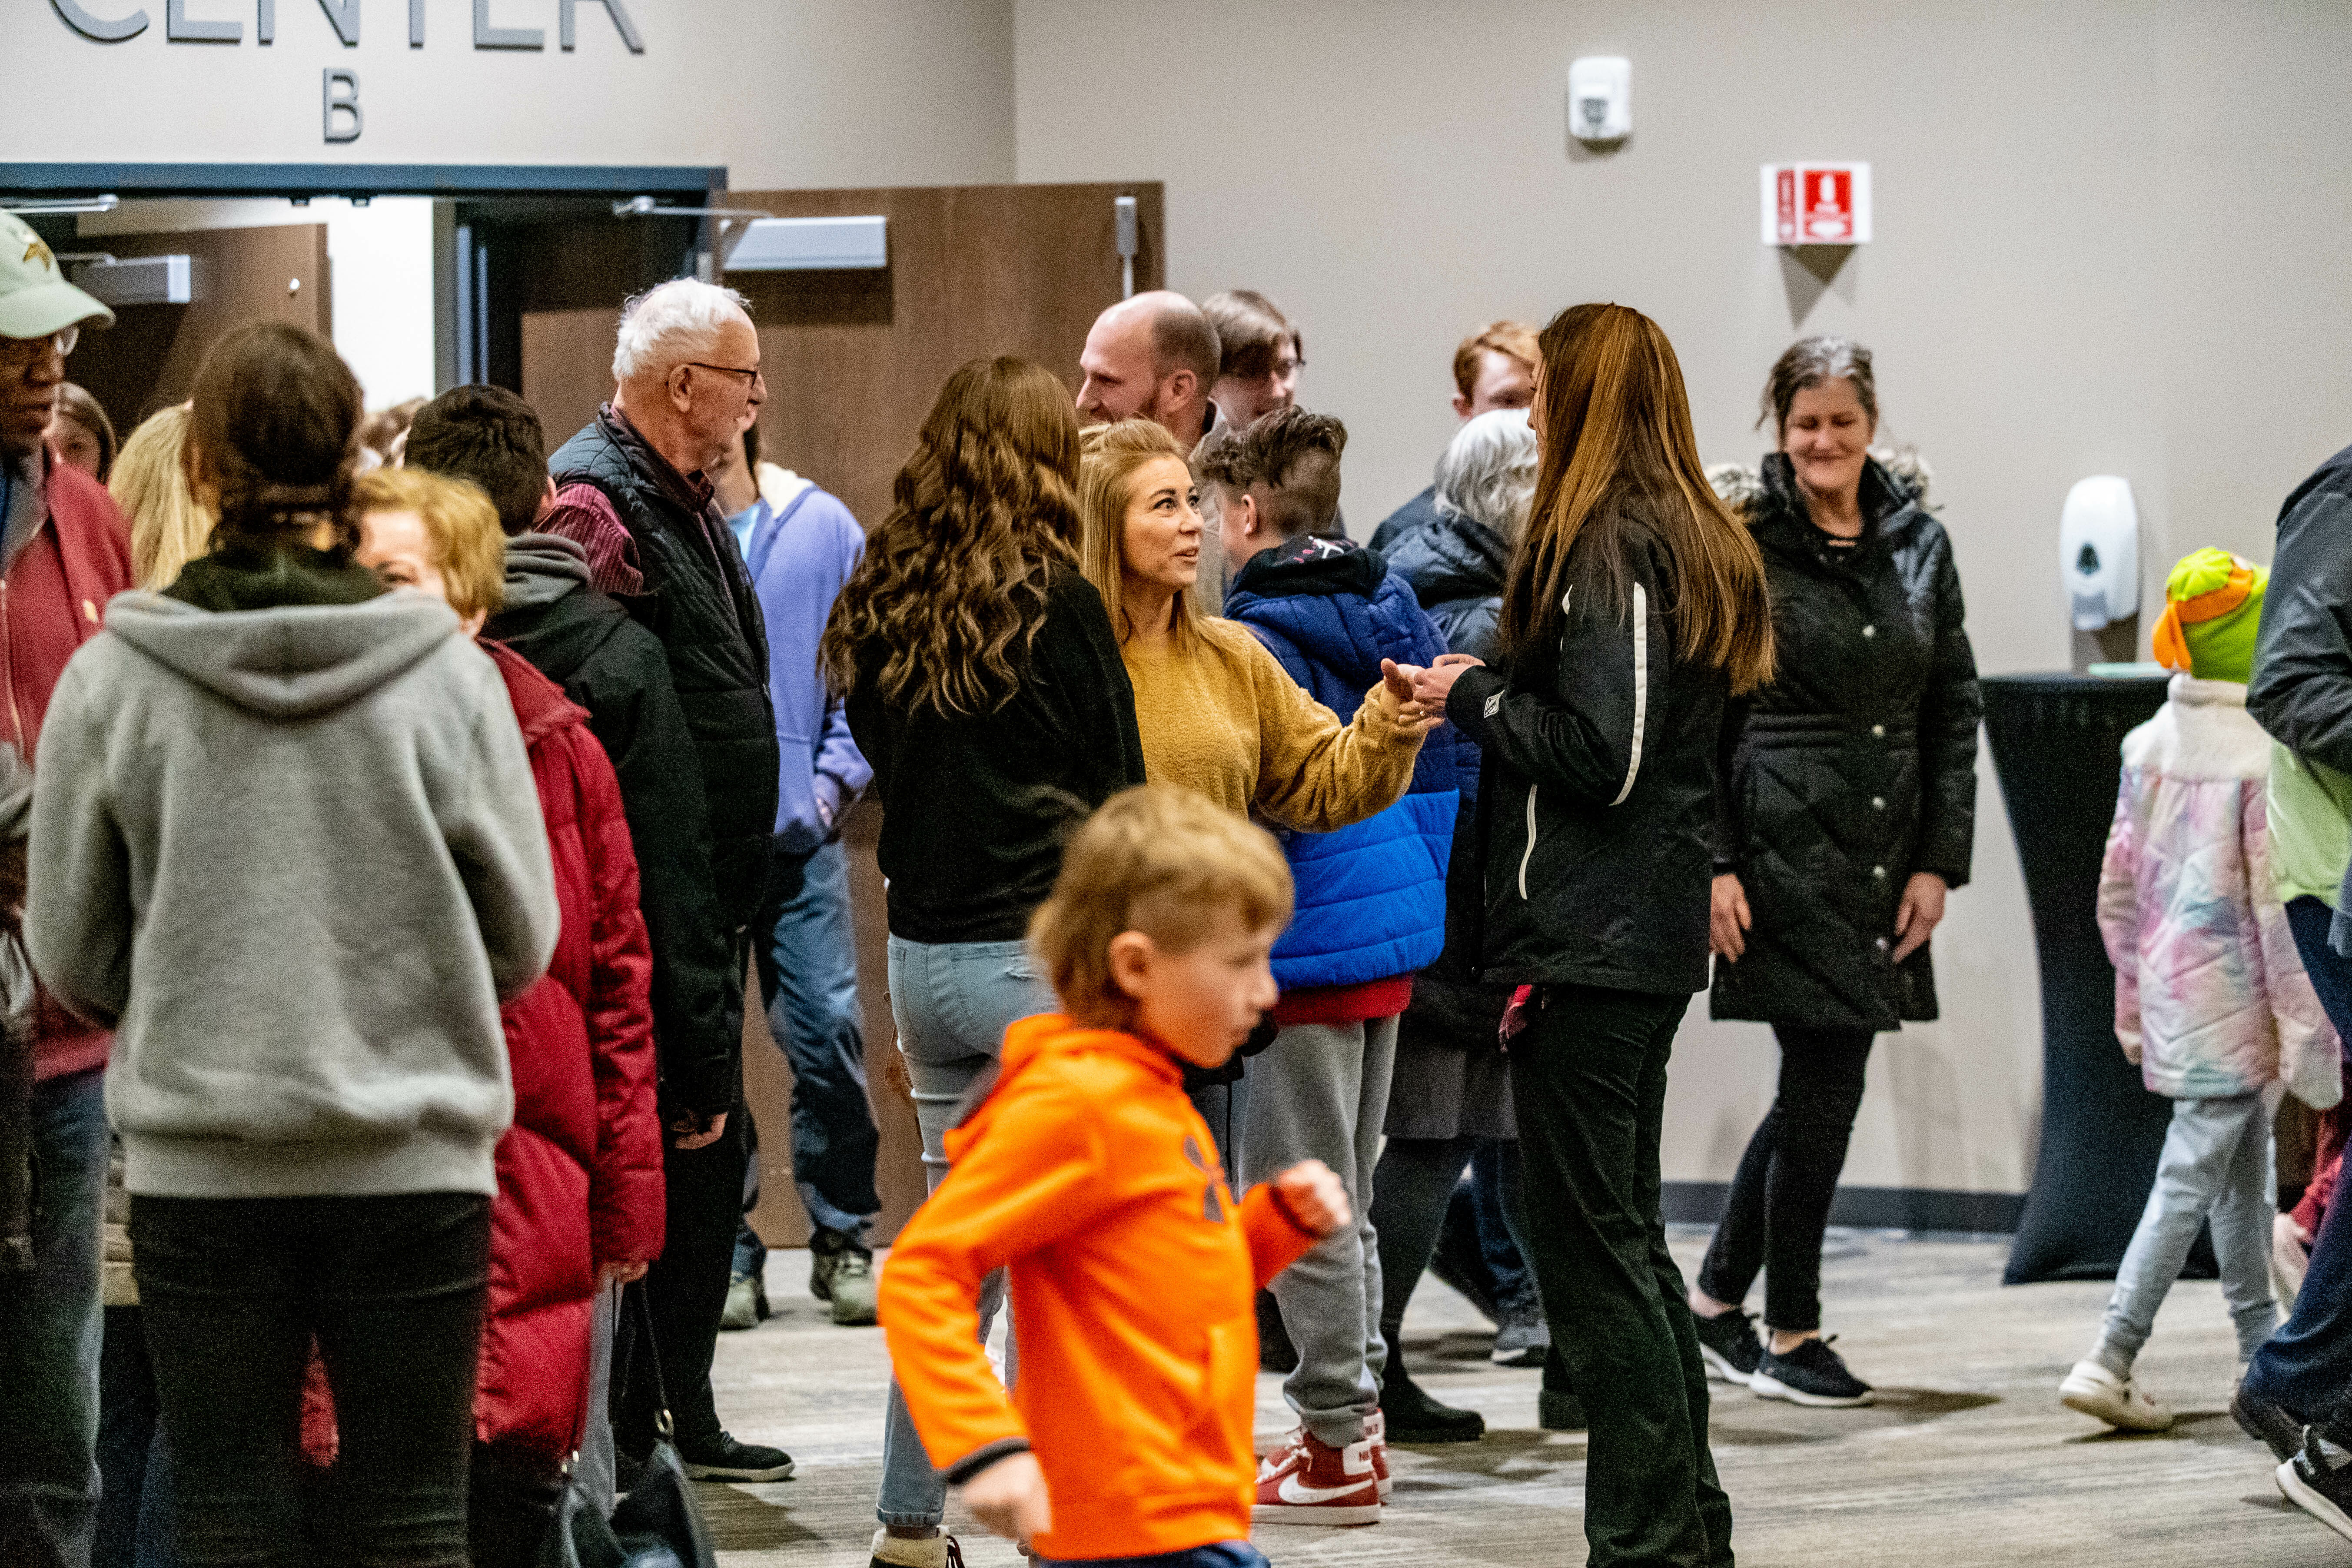
M 1715 961 L 1715 1018 L 1893 1030 L 1936 1018 L 1929 950 L 1891 961 L 1912 872 L 1969 879 L 1983 698 L 1952 541 L 1877 461 L 1832 550 L 1783 454 L 1745 498 L 1778 675 L 1724 715 L 1717 872 L 1755 929 Z

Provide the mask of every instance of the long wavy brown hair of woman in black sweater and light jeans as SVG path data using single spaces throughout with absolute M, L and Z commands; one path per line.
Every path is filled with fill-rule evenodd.
M 1077 411 L 1054 371 L 971 360 L 938 388 L 891 510 L 849 574 L 816 663 L 847 693 L 941 717 L 1014 698 L 1047 578 L 1077 567 Z

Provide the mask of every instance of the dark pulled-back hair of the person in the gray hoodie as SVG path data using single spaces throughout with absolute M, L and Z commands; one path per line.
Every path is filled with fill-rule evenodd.
M 327 339 L 266 322 L 221 339 L 188 402 L 188 484 L 216 515 L 214 548 L 275 552 L 334 524 L 332 552 L 360 548 L 350 510 L 360 381 Z

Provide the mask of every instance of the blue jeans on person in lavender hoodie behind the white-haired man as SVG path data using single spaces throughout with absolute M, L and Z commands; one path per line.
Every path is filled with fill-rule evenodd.
M 809 856 L 779 844 L 753 931 L 767 1027 L 793 1065 L 793 1185 L 809 1220 L 866 1246 L 875 1194 L 875 1112 L 866 1100 L 849 858 L 840 839 Z

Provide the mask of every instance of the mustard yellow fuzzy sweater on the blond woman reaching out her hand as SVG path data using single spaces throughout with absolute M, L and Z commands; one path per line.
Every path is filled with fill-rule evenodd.
M 1310 698 L 1237 621 L 1202 621 L 1207 646 L 1120 649 L 1136 689 L 1143 773 L 1225 811 L 1331 832 L 1397 804 L 1421 733 L 1374 686 L 1352 724 Z

